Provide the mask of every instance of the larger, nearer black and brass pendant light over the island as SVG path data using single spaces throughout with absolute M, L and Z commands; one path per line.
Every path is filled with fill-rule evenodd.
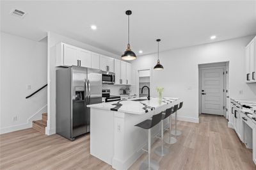
M 124 54 L 122 54 L 122 59 L 124 60 L 133 60 L 136 59 L 136 54 L 131 50 L 130 46 L 130 15 L 132 12 L 130 10 L 127 10 L 125 12 L 126 15 L 128 15 L 128 44 L 127 44 L 127 49 L 125 50 Z

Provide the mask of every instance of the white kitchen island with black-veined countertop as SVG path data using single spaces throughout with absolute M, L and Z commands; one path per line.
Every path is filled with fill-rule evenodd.
M 147 144 L 147 130 L 134 125 L 152 115 L 178 104 L 179 98 L 133 98 L 88 105 L 90 114 L 90 154 L 115 169 L 128 169 L 143 153 Z M 164 120 L 164 125 L 168 119 Z M 152 137 L 160 126 L 152 128 Z M 154 139 L 152 139 L 154 141 Z

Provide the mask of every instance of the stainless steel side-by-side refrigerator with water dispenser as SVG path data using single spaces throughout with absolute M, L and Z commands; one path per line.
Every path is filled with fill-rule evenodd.
M 102 71 L 71 66 L 56 71 L 56 132 L 71 141 L 90 132 L 89 104 L 102 102 Z

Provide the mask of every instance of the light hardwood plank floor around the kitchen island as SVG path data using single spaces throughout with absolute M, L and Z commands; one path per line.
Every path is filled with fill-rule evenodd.
M 182 135 L 170 153 L 152 158 L 160 169 L 255 170 L 252 150 L 245 148 L 221 116 L 202 114 L 200 123 L 179 121 Z M 165 134 L 167 135 L 167 134 Z M 70 142 L 59 135 L 42 135 L 32 128 L 0 135 L 0 169 L 112 169 L 89 154 L 90 135 Z M 152 151 L 159 140 L 152 145 Z M 139 169 L 143 154 L 130 169 Z

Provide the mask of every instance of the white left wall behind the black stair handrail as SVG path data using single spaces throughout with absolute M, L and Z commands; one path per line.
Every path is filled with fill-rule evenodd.
M 46 83 L 47 38 L 35 42 L 1 32 L 1 134 L 29 128 L 41 118 L 47 111 L 47 88 L 25 97 Z

